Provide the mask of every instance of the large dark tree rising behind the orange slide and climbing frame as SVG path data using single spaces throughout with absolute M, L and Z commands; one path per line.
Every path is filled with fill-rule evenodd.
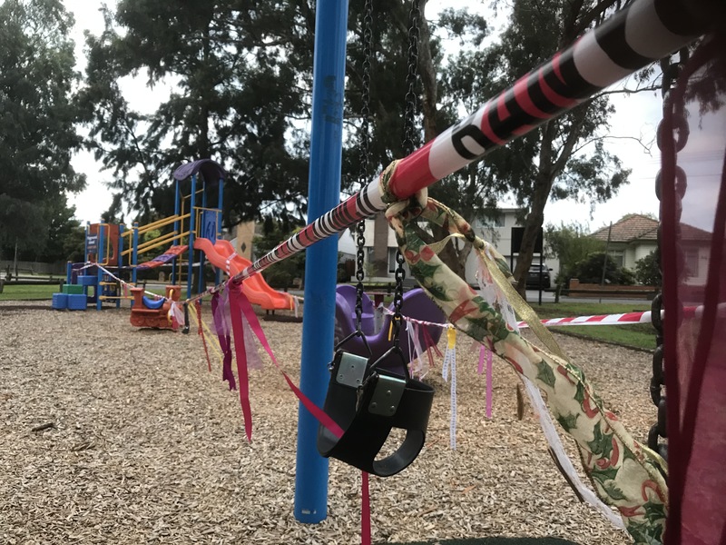
M 293 120 L 308 116 L 307 1 L 121 0 L 105 18 L 103 34 L 86 37 L 86 144 L 141 221 L 171 213 L 172 170 L 206 157 L 237 173 L 226 183 L 226 223 L 307 212 L 304 138 L 289 142 Z M 141 73 L 150 88 L 174 86 L 150 115 L 132 111 L 118 84 Z

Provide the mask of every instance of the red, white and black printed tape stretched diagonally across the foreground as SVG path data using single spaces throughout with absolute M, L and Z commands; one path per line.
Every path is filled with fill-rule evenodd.
M 474 114 L 402 159 L 389 191 L 405 199 L 688 45 L 701 32 L 687 4 L 687 0 L 636 0 L 623 8 Z M 234 280 L 248 278 L 385 208 L 377 179 L 280 243 Z

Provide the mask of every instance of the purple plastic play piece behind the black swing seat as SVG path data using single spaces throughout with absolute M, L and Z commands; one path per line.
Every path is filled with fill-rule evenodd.
M 340 293 L 340 288 L 343 288 L 344 293 Z M 346 297 L 347 292 L 349 292 L 348 288 L 352 288 L 353 292 L 353 298 L 352 298 L 352 306 L 351 303 L 348 302 L 348 298 Z M 356 331 L 356 322 L 355 322 L 355 299 L 356 295 L 356 289 L 354 286 L 348 286 L 348 285 L 339 285 L 336 289 L 336 296 L 335 296 L 335 342 L 336 345 L 338 345 L 338 342 L 342 341 L 348 335 L 352 332 Z M 373 303 L 370 302 L 370 299 L 368 299 L 368 295 L 364 296 L 364 301 L 368 300 L 368 303 L 370 303 L 370 311 L 371 311 L 371 317 L 372 317 L 372 310 L 373 310 Z M 393 305 L 390 305 L 390 310 L 393 310 Z M 363 306 L 364 309 L 364 317 L 365 317 L 365 309 L 366 305 L 364 303 Z M 411 290 L 410 292 L 406 292 L 403 294 L 403 305 L 401 306 L 401 314 L 404 316 L 407 316 L 409 318 L 413 318 L 415 320 L 422 320 L 426 322 L 436 322 L 436 323 L 446 323 L 446 318 L 444 317 L 444 313 L 441 312 L 441 310 L 437 307 L 437 305 L 432 302 L 427 294 L 420 288 L 416 288 L 415 290 Z M 383 318 L 383 326 L 381 327 L 380 331 L 378 333 L 372 333 L 368 334 L 366 333 L 366 330 L 363 329 L 363 332 L 366 333 L 366 341 L 368 342 L 368 346 L 370 347 L 370 351 L 372 352 L 372 357 L 375 360 L 377 360 L 380 356 L 382 356 L 388 349 L 393 346 L 393 342 L 388 341 L 388 328 L 390 326 L 391 317 L 389 314 L 384 314 Z M 365 320 L 362 322 L 363 325 L 365 325 Z M 371 327 L 371 331 L 372 331 Z M 421 344 L 421 347 L 427 346 L 427 340 L 424 336 L 423 330 L 427 329 L 428 336 L 430 337 L 430 340 L 433 342 L 438 342 L 439 338 L 441 337 L 442 329 L 440 327 L 436 326 L 421 326 L 421 331 L 418 333 L 418 342 Z M 401 331 L 401 335 L 399 338 L 399 344 L 401 347 L 401 351 L 404 353 L 404 357 L 406 359 L 405 363 L 408 362 L 410 357 L 410 348 L 409 348 L 409 341 L 408 341 L 408 335 L 407 332 Z M 430 342 L 429 342 L 430 344 Z M 348 340 L 343 346 L 340 347 L 342 350 L 350 353 L 357 354 L 359 356 L 368 357 L 368 351 L 366 350 L 365 343 L 363 342 L 363 339 L 359 336 L 352 337 Z M 390 362 L 388 363 L 388 360 L 386 362 L 381 362 L 381 366 L 385 368 L 393 368 L 397 365 L 400 365 L 400 361 L 398 362 Z

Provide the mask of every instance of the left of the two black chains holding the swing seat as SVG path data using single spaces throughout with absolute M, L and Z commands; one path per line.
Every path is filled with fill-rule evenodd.
M 369 118 L 370 118 L 370 60 L 373 56 L 371 44 L 373 42 L 373 0 L 366 0 L 365 15 L 363 16 L 363 89 L 361 98 L 363 105 L 360 108 L 360 173 L 358 174 L 358 182 L 363 188 L 368 183 L 368 166 L 370 164 L 370 134 L 369 134 Z M 366 246 L 366 221 L 361 220 L 356 225 L 356 244 L 358 251 L 356 252 L 356 328 L 358 332 L 362 332 L 363 318 L 363 279 L 365 272 L 364 252 Z

